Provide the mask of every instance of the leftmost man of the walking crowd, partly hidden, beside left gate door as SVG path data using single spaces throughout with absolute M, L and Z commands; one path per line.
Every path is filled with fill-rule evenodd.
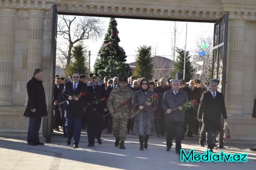
M 58 93 L 59 93 L 59 88 L 64 86 L 64 84 L 61 84 L 61 78 L 56 77 L 55 78 L 55 84 L 54 84 L 54 91 L 53 91 L 53 101 L 54 101 L 54 114 L 53 114 L 53 120 L 54 120 L 54 128 L 56 131 L 60 131 L 59 125 L 61 125 L 61 116 L 60 116 L 60 111 L 58 109 Z

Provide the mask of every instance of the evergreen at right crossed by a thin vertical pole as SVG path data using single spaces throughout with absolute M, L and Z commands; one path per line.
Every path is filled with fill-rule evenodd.
M 178 79 L 183 79 L 183 67 L 184 67 L 184 50 L 176 49 L 176 52 L 179 56 L 174 63 L 174 70 L 171 71 L 170 75 L 172 78 L 175 78 L 175 73 L 178 73 Z M 192 62 L 190 61 L 191 56 L 189 56 L 189 52 L 186 53 L 186 62 L 185 62 L 185 81 L 189 81 L 192 79 L 192 75 L 195 72 L 193 69 Z

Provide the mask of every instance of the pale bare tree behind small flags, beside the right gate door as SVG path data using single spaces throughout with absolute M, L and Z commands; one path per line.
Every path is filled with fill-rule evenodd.
M 201 48 L 205 43 L 208 44 L 208 48 Z M 193 65 L 194 68 L 202 70 L 201 75 L 195 75 L 196 79 L 200 79 L 203 82 L 207 82 L 212 76 L 212 56 L 213 56 L 213 35 L 208 37 L 200 36 L 196 39 L 195 51 L 193 53 Z M 198 52 L 205 51 L 205 57 L 200 56 Z M 197 64 L 196 62 L 203 61 L 203 66 Z

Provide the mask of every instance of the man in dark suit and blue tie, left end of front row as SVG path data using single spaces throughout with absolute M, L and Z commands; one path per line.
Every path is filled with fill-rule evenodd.
M 69 101 L 67 105 L 66 128 L 68 134 L 67 145 L 74 138 L 73 147 L 77 148 L 80 141 L 82 118 L 84 117 L 84 106 L 86 103 L 87 86 L 79 81 L 80 74 L 72 74 L 72 81 L 67 82 L 64 87 L 63 97 Z M 85 93 L 85 94 L 81 94 Z

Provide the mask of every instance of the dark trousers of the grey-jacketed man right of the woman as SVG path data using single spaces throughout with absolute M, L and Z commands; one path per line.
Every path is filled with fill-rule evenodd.
M 183 121 L 166 121 L 166 146 L 172 146 L 172 138 L 175 134 L 176 151 L 181 149 Z

